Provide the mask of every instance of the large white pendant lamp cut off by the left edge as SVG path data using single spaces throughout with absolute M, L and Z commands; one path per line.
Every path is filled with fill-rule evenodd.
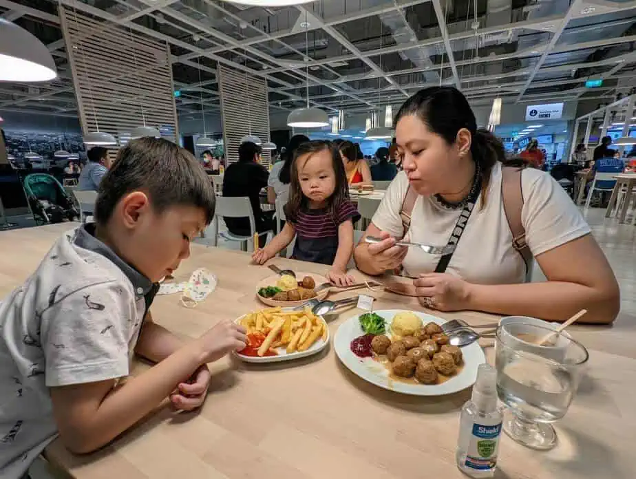
M 0 81 L 50 81 L 57 72 L 44 43 L 0 18 Z

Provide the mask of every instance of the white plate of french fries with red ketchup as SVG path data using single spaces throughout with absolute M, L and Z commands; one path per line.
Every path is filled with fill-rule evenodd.
M 303 358 L 323 350 L 329 343 L 324 318 L 310 308 L 266 308 L 236 320 L 247 331 L 247 344 L 234 354 L 247 363 L 275 363 Z

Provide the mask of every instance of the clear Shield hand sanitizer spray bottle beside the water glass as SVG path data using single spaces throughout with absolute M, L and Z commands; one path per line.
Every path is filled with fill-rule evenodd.
M 462 408 L 456 452 L 457 467 L 471 478 L 494 476 L 502 417 L 497 407 L 497 372 L 482 364 L 473 395 Z

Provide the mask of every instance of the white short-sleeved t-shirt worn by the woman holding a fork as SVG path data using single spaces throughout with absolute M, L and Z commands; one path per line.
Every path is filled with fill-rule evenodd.
M 533 256 L 590 233 L 580 211 L 550 175 L 537 169 L 524 169 L 521 178 L 524 198 L 521 221 Z M 395 237 L 403 235 L 400 211 L 408 185 L 406 174 L 398 173 L 372 219 L 378 228 Z M 445 208 L 435 198 L 420 196 L 413 207 L 407 239 L 445 246 L 460 212 Z M 410 248 L 403 266 L 410 276 L 431 273 L 439 259 L 440 255 L 427 255 Z M 503 209 L 500 163 L 491 173 L 486 204 L 481 207 L 480 195 L 446 272 L 476 284 L 524 281 L 524 262 L 512 247 L 512 233 Z

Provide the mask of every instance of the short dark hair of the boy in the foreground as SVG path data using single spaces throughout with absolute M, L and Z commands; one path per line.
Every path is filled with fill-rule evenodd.
M 107 224 L 119 200 L 132 191 L 144 191 L 158 214 L 182 205 L 202 209 L 206 224 L 214 217 L 214 189 L 202 165 L 164 138 L 139 138 L 120 149 L 99 184 L 96 222 Z

